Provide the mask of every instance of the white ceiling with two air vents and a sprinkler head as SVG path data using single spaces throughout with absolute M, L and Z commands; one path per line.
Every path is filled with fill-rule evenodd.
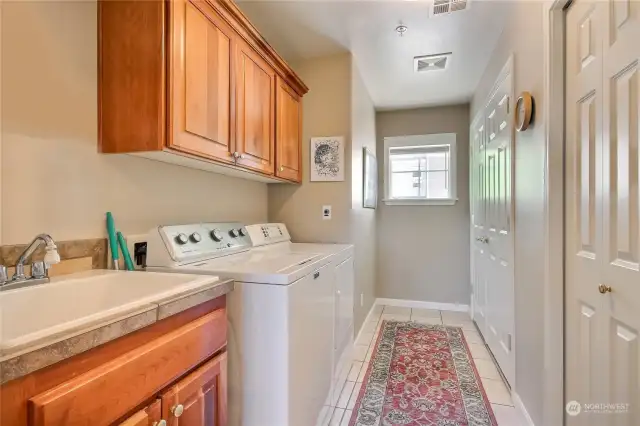
M 502 32 L 507 1 L 471 0 L 431 17 L 431 0 L 253 0 L 240 8 L 287 60 L 350 51 L 376 109 L 471 99 Z M 400 37 L 395 28 L 408 27 Z M 413 57 L 452 52 L 445 70 L 415 73 Z

